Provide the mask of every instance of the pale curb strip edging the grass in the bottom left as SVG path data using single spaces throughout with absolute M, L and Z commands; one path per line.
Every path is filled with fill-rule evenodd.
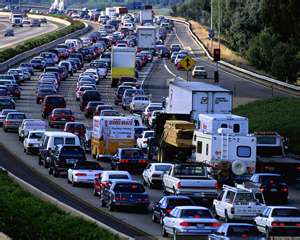
M 7 170 L 6 170 L 7 171 Z M 11 172 L 7 171 L 7 175 L 16 183 L 18 183 L 21 187 L 23 187 L 25 190 L 29 191 L 31 194 L 33 194 L 34 196 L 52 203 L 53 205 L 55 205 L 56 207 L 60 208 L 61 210 L 70 213 L 73 216 L 77 216 L 77 217 L 81 217 L 84 220 L 87 220 L 89 222 L 93 222 L 95 224 L 97 224 L 99 227 L 104 228 L 110 232 L 112 232 L 113 234 L 116 234 L 118 236 L 120 236 L 123 239 L 128 239 L 128 240 L 134 240 L 134 238 L 131 238 L 121 232 L 116 231 L 115 229 L 107 226 L 106 224 L 103 224 L 99 221 L 97 221 L 96 219 L 86 215 L 85 213 L 82 213 L 70 206 L 68 206 L 65 203 L 62 203 L 61 201 L 57 200 L 56 198 L 48 195 L 47 193 L 42 192 L 41 190 L 37 189 L 36 187 L 30 185 L 29 183 L 25 182 L 24 180 L 22 180 L 21 178 L 17 177 L 16 175 L 12 174 Z

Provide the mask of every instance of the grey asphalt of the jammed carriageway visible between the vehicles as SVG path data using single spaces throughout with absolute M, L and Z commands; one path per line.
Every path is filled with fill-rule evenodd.
M 182 24 L 175 25 L 176 33 L 173 33 L 168 37 L 167 44 L 181 42 L 184 47 L 193 51 L 194 57 L 201 65 L 207 67 L 209 75 L 212 76 L 212 71 L 214 69 L 213 64 L 209 63 L 203 57 L 203 53 L 199 50 L 199 47 L 190 36 L 188 36 L 186 27 Z M 93 27 L 94 29 L 99 28 L 97 24 L 93 24 Z M 87 65 L 85 67 L 87 67 Z M 59 88 L 59 94 L 65 96 L 67 107 L 73 110 L 76 120 L 82 121 L 87 126 L 91 127 L 92 120 L 84 118 L 84 115 L 79 110 L 79 104 L 75 100 L 76 79 L 79 74 L 80 73 L 77 73 L 73 77 L 69 77 L 66 81 L 63 81 Z M 168 80 L 174 77 L 174 75 L 184 78 L 186 73 L 177 71 L 173 67 L 173 64 L 167 59 L 155 59 L 152 64 L 147 65 L 142 72 L 140 72 L 139 80 L 144 83 L 144 87 L 152 94 L 153 101 L 161 101 L 163 97 L 167 96 Z M 16 108 L 25 112 L 28 118 L 41 118 L 40 105 L 35 103 L 35 87 L 38 76 L 39 72 L 36 72 L 31 81 L 22 84 L 22 98 L 17 101 Z M 220 71 L 220 80 L 221 86 L 231 89 L 232 91 L 235 90 L 235 106 L 241 103 L 272 96 L 272 91 L 269 88 L 257 83 L 249 82 L 246 79 L 242 79 L 237 75 L 232 75 L 223 70 Z M 208 79 L 207 81 L 212 82 L 211 79 Z M 102 95 L 103 101 L 113 105 L 114 89 L 110 87 L 109 78 L 101 81 L 97 86 L 97 89 Z M 274 96 L 287 96 L 287 94 L 275 90 Z M 116 109 L 122 111 L 120 107 L 116 107 Z M 85 187 L 74 188 L 67 183 L 66 178 L 54 178 L 49 175 L 47 169 L 38 165 L 38 158 L 36 156 L 26 155 L 23 152 L 23 146 L 18 142 L 16 134 L 4 133 L 1 130 L 0 142 L 3 147 L 0 146 L 0 154 L 2 156 L 0 165 L 15 172 L 21 177 L 23 176 L 25 180 L 29 181 L 34 186 L 39 187 L 41 190 L 59 198 L 65 203 L 71 204 L 71 206 L 76 207 L 78 203 L 79 210 L 84 211 L 92 217 L 98 217 L 97 219 L 99 221 L 104 221 L 104 216 L 106 214 L 113 216 L 113 218 L 111 218 L 113 223 L 110 223 L 109 220 L 107 220 L 107 224 L 113 226 L 113 224 L 118 224 L 119 222 L 120 226 L 116 226 L 116 229 L 133 236 L 136 239 L 150 239 L 149 235 L 161 239 L 161 227 L 159 224 L 152 223 L 150 212 L 147 215 L 128 211 L 111 213 L 106 208 L 100 207 L 99 199 L 93 196 L 92 189 Z M 12 154 L 9 154 L 7 151 Z M 90 155 L 88 155 L 88 159 L 91 160 Z M 109 168 L 107 163 L 101 164 L 105 168 Z M 141 180 L 141 177 L 140 175 L 135 175 L 134 179 Z M 52 186 L 55 188 L 52 189 Z M 163 195 L 162 191 L 159 189 L 147 189 L 147 191 L 149 192 L 151 202 L 157 201 Z M 291 188 L 289 203 L 299 206 L 299 202 L 299 191 L 295 188 Z M 100 215 L 99 217 L 95 212 L 92 213 L 93 210 L 96 211 L 97 214 L 104 215 Z

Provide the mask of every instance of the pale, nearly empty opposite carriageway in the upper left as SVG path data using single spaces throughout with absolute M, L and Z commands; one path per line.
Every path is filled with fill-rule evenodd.
M 0 17 L 0 49 L 16 46 L 17 44 L 32 37 L 52 32 L 58 28 L 62 28 L 63 26 L 64 25 L 61 23 L 51 21 L 48 21 L 47 24 L 42 24 L 41 27 L 30 27 L 29 25 L 24 25 L 23 27 L 14 28 L 14 37 L 4 37 L 5 29 L 11 28 L 11 24 L 8 17 Z

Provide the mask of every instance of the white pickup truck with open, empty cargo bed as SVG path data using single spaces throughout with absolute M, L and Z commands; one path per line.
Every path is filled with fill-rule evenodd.
M 174 164 L 163 176 L 165 194 L 186 195 L 213 200 L 217 197 L 217 181 L 208 177 L 202 164 Z

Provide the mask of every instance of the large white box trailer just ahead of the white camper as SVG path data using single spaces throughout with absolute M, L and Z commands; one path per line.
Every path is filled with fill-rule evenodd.
M 174 79 L 169 83 L 168 113 L 191 114 L 198 121 L 200 113 L 231 113 L 232 92 L 219 86 Z

